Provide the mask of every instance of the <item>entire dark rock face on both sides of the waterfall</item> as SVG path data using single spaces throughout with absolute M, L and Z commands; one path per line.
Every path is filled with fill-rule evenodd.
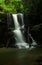
M 39 17 L 35 15 L 30 16 L 28 14 L 23 14 L 24 29 L 21 28 L 21 31 L 24 30 L 23 35 L 25 37 L 26 43 L 29 42 L 31 45 L 32 40 L 31 38 L 28 38 L 28 33 L 31 33 L 33 38 L 38 43 L 38 45 L 42 46 L 42 31 L 41 31 L 42 25 L 40 19 L 38 20 L 38 18 Z M 21 26 L 22 25 L 21 17 L 19 15 L 18 15 L 18 20 L 20 20 L 20 26 Z M 15 47 L 16 40 L 13 37 L 14 33 L 12 32 L 12 30 L 15 29 L 15 27 L 12 21 L 13 21 L 12 14 L 8 13 L 6 15 L 2 15 L 2 16 L 0 15 L 0 47 L 1 46 Z M 29 39 L 30 41 L 28 41 Z

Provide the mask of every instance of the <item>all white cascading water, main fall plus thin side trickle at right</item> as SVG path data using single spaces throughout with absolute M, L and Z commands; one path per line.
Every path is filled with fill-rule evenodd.
M 19 16 L 19 20 L 21 20 L 21 23 L 22 23 L 21 25 L 20 25 L 20 21 L 18 20 L 18 16 Z M 21 31 L 21 29 L 24 29 L 23 14 L 21 14 L 21 13 L 19 13 L 19 14 L 12 14 L 12 17 L 13 17 L 14 27 L 15 27 L 15 30 L 13 30 L 12 32 L 15 35 L 16 46 L 19 49 L 23 49 L 23 48 L 30 48 L 30 49 L 32 49 L 32 48 L 35 48 L 37 43 L 35 42 L 35 40 L 31 36 L 31 34 L 29 33 L 29 29 L 28 29 L 28 41 L 30 41 L 29 40 L 29 37 L 30 37 L 31 40 L 32 40 L 31 47 L 30 47 L 30 44 L 28 44 L 29 42 L 28 43 L 25 42 L 25 38 L 24 38 L 24 35 L 22 33 L 22 32 L 24 32 L 24 30 Z M 28 28 L 29 28 L 29 26 L 28 26 Z

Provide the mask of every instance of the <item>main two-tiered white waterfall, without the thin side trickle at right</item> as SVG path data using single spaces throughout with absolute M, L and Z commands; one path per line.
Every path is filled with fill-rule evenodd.
M 24 36 L 22 34 L 21 28 L 24 28 L 24 24 L 23 24 L 23 14 L 20 14 L 20 17 L 22 19 L 22 26 L 20 26 L 17 18 L 18 14 L 12 14 L 13 16 L 13 21 L 14 21 L 14 26 L 15 26 L 15 30 L 13 30 L 14 35 L 15 35 L 15 39 L 16 39 L 16 46 L 18 48 L 29 48 L 29 44 L 25 42 Z

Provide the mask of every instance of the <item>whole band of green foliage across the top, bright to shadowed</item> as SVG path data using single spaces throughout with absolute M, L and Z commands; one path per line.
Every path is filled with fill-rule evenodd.
M 41 14 L 42 0 L 0 0 L 4 12 Z

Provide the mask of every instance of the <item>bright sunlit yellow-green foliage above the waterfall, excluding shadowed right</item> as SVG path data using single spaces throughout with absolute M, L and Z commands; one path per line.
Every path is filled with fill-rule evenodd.
M 5 13 L 19 13 L 23 12 L 23 5 L 21 0 L 4 0 L 2 3 L 3 11 Z

